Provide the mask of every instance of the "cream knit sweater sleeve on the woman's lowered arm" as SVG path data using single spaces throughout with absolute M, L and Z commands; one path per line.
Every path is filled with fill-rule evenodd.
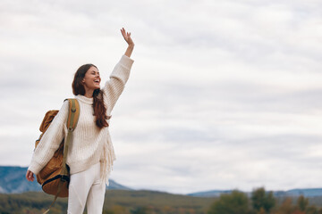
M 68 101 L 65 101 L 61 110 L 58 111 L 49 128 L 47 128 L 47 131 L 41 137 L 32 155 L 29 170 L 36 175 L 47 165 L 64 139 L 67 129 L 65 124 L 68 116 L 68 106 Z

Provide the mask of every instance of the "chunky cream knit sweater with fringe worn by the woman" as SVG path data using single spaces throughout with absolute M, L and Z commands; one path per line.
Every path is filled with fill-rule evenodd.
M 111 115 L 114 104 L 123 92 L 125 83 L 130 75 L 132 63 L 133 61 L 129 57 L 123 55 L 102 89 L 107 115 Z M 114 147 L 108 127 L 97 128 L 95 117 L 93 116 L 93 98 L 83 95 L 76 95 L 75 98 L 80 103 L 80 118 L 77 127 L 72 132 L 67 164 L 71 169 L 71 174 L 74 174 L 89 169 L 90 166 L 101 161 L 103 163 L 101 164 L 101 175 L 106 178 L 106 183 L 108 184 L 108 175 L 115 160 Z M 29 170 L 34 174 L 37 175 L 46 166 L 63 138 L 67 136 L 67 117 L 68 102 L 64 102 L 63 107 L 55 116 L 33 153 Z M 107 122 L 109 123 L 109 120 Z

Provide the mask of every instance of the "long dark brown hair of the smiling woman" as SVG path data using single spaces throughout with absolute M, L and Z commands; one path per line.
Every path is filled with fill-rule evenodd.
M 95 67 L 93 64 L 84 64 L 76 71 L 72 81 L 72 93 L 74 95 L 85 95 L 85 87 L 82 83 L 85 78 L 86 72 L 91 68 Z M 108 127 L 106 119 L 110 119 L 106 115 L 106 106 L 103 101 L 103 92 L 100 89 L 94 90 L 93 93 L 93 110 L 96 118 L 96 125 L 98 128 Z

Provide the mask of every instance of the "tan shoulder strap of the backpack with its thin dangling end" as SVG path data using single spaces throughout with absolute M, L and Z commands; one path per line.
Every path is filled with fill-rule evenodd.
M 66 99 L 69 102 L 69 111 L 68 111 L 68 118 L 67 118 L 67 137 L 64 140 L 64 157 L 63 157 L 63 163 L 62 163 L 62 170 L 61 170 L 61 180 L 58 184 L 57 193 L 55 195 L 54 202 L 50 205 L 49 209 L 46 210 L 43 214 L 46 214 L 49 212 L 50 208 L 55 204 L 55 201 L 59 195 L 59 193 L 62 191 L 62 186 L 64 185 L 64 182 L 70 181 L 70 173 L 69 173 L 69 167 L 66 164 L 67 160 L 67 153 L 68 153 L 68 146 L 71 141 L 72 137 L 72 131 L 76 128 L 78 119 L 80 118 L 80 103 L 76 99 Z M 64 101 L 66 101 L 64 100 Z

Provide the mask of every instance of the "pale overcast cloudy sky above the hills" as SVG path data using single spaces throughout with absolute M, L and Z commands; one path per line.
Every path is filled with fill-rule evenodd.
M 47 110 L 94 63 L 135 61 L 112 178 L 193 193 L 322 187 L 319 0 L 0 2 L 0 165 L 27 167 Z

